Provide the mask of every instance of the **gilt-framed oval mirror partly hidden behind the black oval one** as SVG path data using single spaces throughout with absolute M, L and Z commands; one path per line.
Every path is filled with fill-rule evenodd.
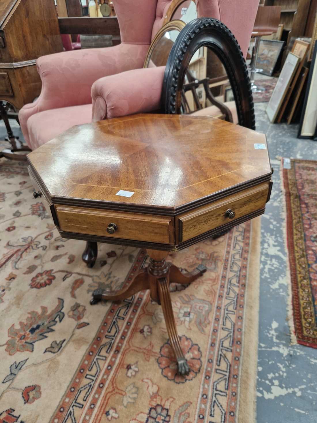
M 150 45 L 144 68 L 166 65 L 173 44 L 185 25 L 183 21 L 174 20 L 161 27 Z

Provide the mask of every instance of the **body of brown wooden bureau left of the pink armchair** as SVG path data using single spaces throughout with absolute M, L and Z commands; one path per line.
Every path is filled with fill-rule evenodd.
M 36 59 L 63 51 L 52 0 L 0 0 L 0 100 L 16 110 L 41 92 Z

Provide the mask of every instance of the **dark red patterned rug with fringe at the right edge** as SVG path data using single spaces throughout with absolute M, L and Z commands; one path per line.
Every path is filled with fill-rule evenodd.
M 317 162 L 291 159 L 282 175 L 295 335 L 317 348 Z

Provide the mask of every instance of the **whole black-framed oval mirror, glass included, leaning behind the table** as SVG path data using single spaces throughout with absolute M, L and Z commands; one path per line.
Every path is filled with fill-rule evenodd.
M 255 129 L 245 61 L 222 22 L 199 18 L 181 31 L 167 60 L 162 112 L 208 115 Z

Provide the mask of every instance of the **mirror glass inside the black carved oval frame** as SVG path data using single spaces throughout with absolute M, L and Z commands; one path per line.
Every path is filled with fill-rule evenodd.
M 208 47 L 197 49 L 190 60 L 183 82 L 180 113 L 210 115 L 238 124 L 227 72 Z

